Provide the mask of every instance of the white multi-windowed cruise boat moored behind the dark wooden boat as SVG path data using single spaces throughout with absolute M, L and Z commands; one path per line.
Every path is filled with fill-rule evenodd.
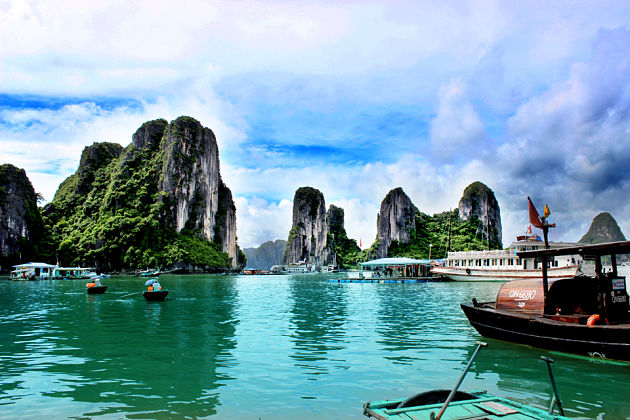
M 575 246 L 567 242 L 550 242 L 551 248 Z M 449 252 L 442 266 L 434 267 L 431 273 L 448 277 L 454 281 L 511 281 L 541 278 L 541 264 L 534 259 L 521 259 L 519 251 L 543 249 L 545 243 L 534 235 L 517 237 L 509 249 L 491 251 Z M 554 278 L 574 277 L 583 263 L 579 255 L 558 256 L 549 261 L 547 276 Z

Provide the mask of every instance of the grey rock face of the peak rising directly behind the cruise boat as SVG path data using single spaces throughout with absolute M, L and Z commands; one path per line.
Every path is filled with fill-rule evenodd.
M 490 229 L 491 248 L 503 248 L 501 230 L 501 210 L 494 192 L 481 182 L 473 182 L 464 190 L 459 200 L 459 218 L 465 221 L 476 217 L 480 221 L 479 229 L 488 238 Z

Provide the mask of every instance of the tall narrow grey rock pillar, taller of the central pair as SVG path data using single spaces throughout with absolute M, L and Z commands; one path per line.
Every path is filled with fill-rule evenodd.
M 331 253 L 327 234 L 324 195 L 315 188 L 298 188 L 293 198 L 293 226 L 282 263 L 309 261 L 315 267 L 328 264 Z

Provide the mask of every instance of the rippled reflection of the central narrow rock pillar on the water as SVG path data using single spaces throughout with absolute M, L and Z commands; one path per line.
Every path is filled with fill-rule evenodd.
M 322 287 L 321 282 L 308 276 L 295 276 L 290 285 L 293 298 L 291 334 L 294 353 L 299 366 L 311 375 L 328 373 L 323 363 L 329 353 L 345 348 L 348 302 L 346 289 Z

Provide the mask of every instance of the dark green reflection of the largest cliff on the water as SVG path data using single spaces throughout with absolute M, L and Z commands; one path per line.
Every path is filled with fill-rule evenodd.
M 231 379 L 219 369 L 231 363 L 235 347 L 236 291 L 232 282 L 216 278 L 196 279 L 193 288 L 173 284 L 178 282 L 183 286 L 181 280 L 169 280 L 178 292 L 166 302 L 145 302 L 139 294 L 86 297 L 83 292 L 68 298 L 64 293 L 26 293 L 31 305 L 49 302 L 72 311 L 3 322 L 3 334 L 12 331 L 18 337 L 2 340 L 12 346 L 0 348 L 3 359 L 12 354 L 16 372 L 27 370 L 22 364 L 37 364 L 36 371 L 57 383 L 40 387 L 36 380 L 31 392 L 87 403 L 85 416 L 214 414 L 217 389 Z M 133 279 L 120 286 L 130 283 L 141 287 Z M 19 379 L 4 380 L 2 390 L 12 382 Z

